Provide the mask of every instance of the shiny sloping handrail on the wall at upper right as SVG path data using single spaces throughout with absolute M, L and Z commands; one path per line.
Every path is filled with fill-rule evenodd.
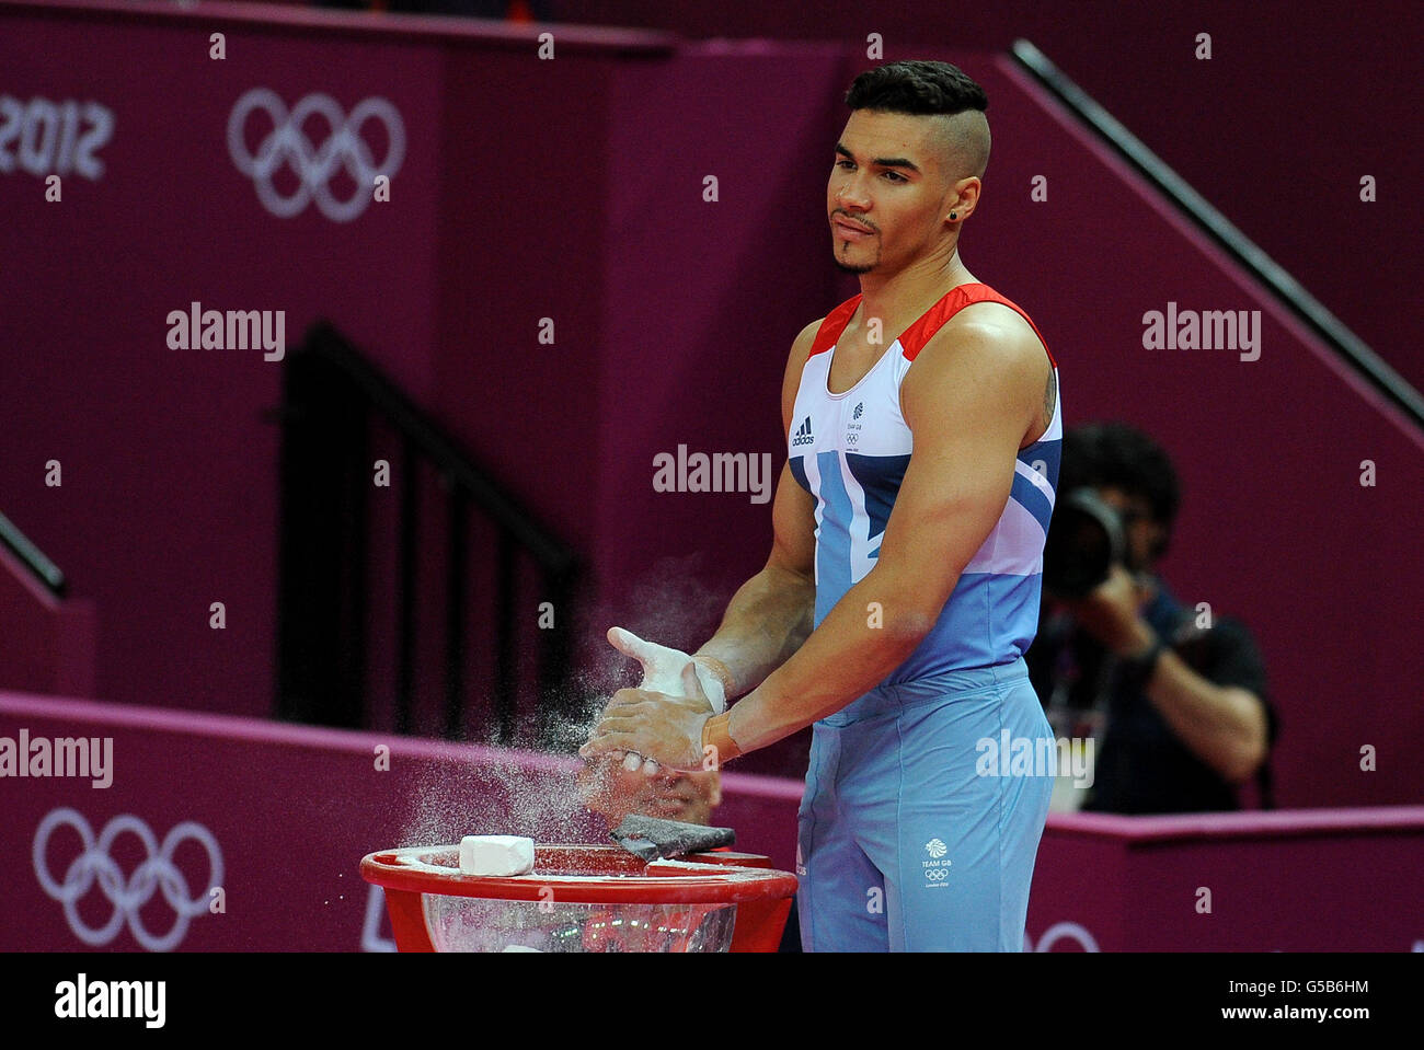
M 1014 41 L 1014 58 L 1078 120 L 1098 132 L 1143 178 L 1168 196 L 1182 213 L 1250 270 L 1290 310 L 1336 350 L 1356 371 L 1393 401 L 1415 425 L 1424 428 L 1424 396 L 1391 368 L 1330 310 L 1292 277 L 1274 259 L 1212 208 L 1188 182 L 1148 149 L 1048 57 L 1027 40 Z

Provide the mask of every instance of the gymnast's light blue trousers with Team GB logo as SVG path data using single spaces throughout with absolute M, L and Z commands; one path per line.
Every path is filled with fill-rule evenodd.
M 1011 771 L 1002 744 L 1042 754 L 1052 738 L 1022 659 L 880 686 L 817 721 L 797 827 L 802 948 L 1022 950 L 1054 770 Z

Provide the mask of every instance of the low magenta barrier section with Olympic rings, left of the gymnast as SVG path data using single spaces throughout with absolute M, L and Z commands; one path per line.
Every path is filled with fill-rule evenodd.
M 367 915 L 372 892 L 357 871 L 366 854 L 486 834 L 531 835 L 544 844 L 608 841 L 602 818 L 578 804 L 577 758 L 0 693 L 0 737 L 17 740 L 21 730 L 30 740 L 108 737 L 112 768 L 108 787 L 60 777 L 0 781 L 0 855 L 16 859 L 0 905 L 0 950 L 7 952 L 148 948 L 179 922 L 168 893 L 206 905 L 194 906 L 174 948 L 355 952 L 390 938 L 383 913 L 376 912 L 376 922 Z M 380 747 L 389 748 L 386 768 Z M 800 785 L 728 774 L 723 792 L 716 817 L 736 828 L 738 849 L 787 869 Z M 66 810 L 71 812 L 54 817 Z M 121 919 L 108 930 L 115 905 L 104 885 L 141 898 L 145 884 L 135 871 L 152 854 L 142 831 L 118 834 L 121 822 L 90 858 L 101 865 L 101 878 L 85 882 L 83 868 L 70 872 L 84 852 L 75 815 L 100 839 L 125 814 L 154 835 L 154 852 L 167 861 L 159 865 L 167 888 L 142 899 L 137 912 L 117 909 Z M 179 828 L 185 822 L 199 828 Z M 37 842 L 43 871 L 33 857 Z M 216 879 L 205 842 L 219 858 Z M 110 869 L 98 855 L 117 865 L 117 882 L 105 881 Z M 67 889 L 58 898 L 46 893 L 46 876 L 51 891 L 54 884 Z M 222 912 L 212 911 L 214 888 L 224 891 Z M 67 895 L 74 916 L 66 915 Z M 105 935 L 84 942 L 83 929 Z

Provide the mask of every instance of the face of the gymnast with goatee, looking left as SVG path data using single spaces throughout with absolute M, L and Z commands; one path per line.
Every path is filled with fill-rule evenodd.
M 957 189 L 941 120 L 873 110 L 850 114 L 826 184 L 836 266 L 894 273 L 943 248 Z

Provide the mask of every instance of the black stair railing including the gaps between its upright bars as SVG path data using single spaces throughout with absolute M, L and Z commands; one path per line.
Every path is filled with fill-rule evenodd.
M 278 717 L 547 744 L 570 630 L 537 610 L 568 616 L 574 552 L 330 324 L 283 368 Z M 420 703 L 431 694 L 439 717 Z

